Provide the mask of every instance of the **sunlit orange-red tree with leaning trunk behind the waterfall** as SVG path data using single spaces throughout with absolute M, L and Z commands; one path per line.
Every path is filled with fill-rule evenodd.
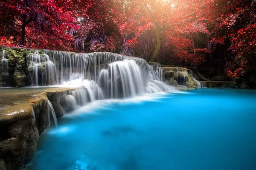
M 193 35 L 208 34 L 206 23 L 198 17 L 201 13 L 193 8 L 200 3 L 201 1 L 196 0 L 140 0 L 121 3 L 123 16 L 120 18 L 119 29 L 124 38 L 123 51 L 131 54 L 128 49 L 137 45 L 141 54 L 152 51 L 147 53 L 151 55 L 151 62 L 156 61 L 165 49 L 172 50 L 175 55 L 187 60 L 192 56 L 198 57 L 197 54 L 201 52 L 208 52 L 206 49 L 200 52 L 193 48 Z M 199 60 L 195 64 L 200 63 Z

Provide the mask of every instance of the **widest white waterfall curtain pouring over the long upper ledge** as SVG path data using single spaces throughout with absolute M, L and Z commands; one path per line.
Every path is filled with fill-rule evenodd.
M 28 65 L 32 85 L 82 86 L 89 101 L 174 90 L 161 82 L 160 65 L 138 57 L 44 50 L 31 51 Z

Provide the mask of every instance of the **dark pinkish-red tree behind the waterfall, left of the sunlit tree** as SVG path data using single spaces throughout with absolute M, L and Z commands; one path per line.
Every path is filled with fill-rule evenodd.
M 77 3 L 74 3 L 77 4 Z M 116 4 L 113 0 L 90 0 L 78 3 L 75 10 L 79 19 L 74 30 L 74 45 L 79 51 L 115 51 L 121 43 L 113 18 Z

